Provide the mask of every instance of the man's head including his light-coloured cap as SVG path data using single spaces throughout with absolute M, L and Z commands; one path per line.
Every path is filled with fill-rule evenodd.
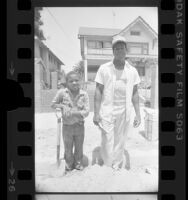
M 112 40 L 112 49 L 115 59 L 124 60 L 127 52 L 125 38 L 120 35 L 114 37 Z

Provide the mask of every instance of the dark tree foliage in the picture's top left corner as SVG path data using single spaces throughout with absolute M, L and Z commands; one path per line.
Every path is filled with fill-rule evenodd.
M 45 40 L 46 38 L 44 37 L 44 33 L 40 28 L 43 25 L 43 22 L 41 20 L 41 15 L 40 15 L 40 11 L 42 11 L 42 9 L 43 9 L 42 7 L 35 8 L 35 35 L 40 40 Z

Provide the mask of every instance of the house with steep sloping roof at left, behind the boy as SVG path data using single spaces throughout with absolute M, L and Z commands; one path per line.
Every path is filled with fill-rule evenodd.
M 65 74 L 64 63 L 42 42 L 35 37 L 35 80 L 41 89 L 56 89 Z

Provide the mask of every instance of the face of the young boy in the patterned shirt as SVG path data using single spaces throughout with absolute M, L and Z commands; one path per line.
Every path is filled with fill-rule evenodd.
M 76 92 L 80 89 L 80 79 L 78 75 L 71 74 L 67 80 L 67 87 L 70 91 Z

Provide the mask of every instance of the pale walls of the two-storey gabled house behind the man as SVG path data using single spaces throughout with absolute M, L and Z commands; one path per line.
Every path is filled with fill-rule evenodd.
M 139 36 L 133 36 L 130 34 L 131 31 L 139 31 L 141 34 Z M 131 55 L 127 54 L 129 57 L 150 57 L 158 55 L 158 40 L 154 37 L 154 35 L 147 30 L 147 27 L 143 26 L 142 23 L 138 22 L 132 27 L 128 29 L 126 32 L 121 32 L 120 35 L 124 36 L 126 41 L 129 43 L 147 43 L 148 44 L 148 55 Z M 113 52 L 109 54 L 102 54 L 104 49 L 92 49 L 90 50 L 90 54 L 88 54 L 87 41 L 112 41 L 112 36 L 82 36 L 80 38 L 81 44 L 81 54 L 82 58 L 87 60 L 87 71 L 88 71 L 88 79 L 94 80 L 96 71 L 90 70 L 92 65 L 100 66 L 103 63 L 110 61 L 113 58 Z M 93 54 L 91 53 L 93 52 Z M 110 51 L 110 49 L 109 49 Z M 150 82 L 151 80 L 151 69 L 149 67 L 145 67 L 145 76 L 142 77 L 146 82 Z

